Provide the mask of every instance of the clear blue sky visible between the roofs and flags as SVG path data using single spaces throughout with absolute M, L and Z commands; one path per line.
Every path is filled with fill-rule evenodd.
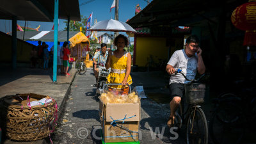
M 79 4 L 82 4 L 90 0 L 79 0 Z M 152 1 L 152 0 L 150 0 Z M 115 8 L 112 8 L 109 12 L 113 0 L 94 0 L 88 4 L 80 6 L 80 14 L 89 17 L 93 12 L 93 20 L 96 18 L 97 22 L 100 20 L 115 19 Z M 147 0 L 119 0 L 119 20 L 126 22 L 127 19 L 131 19 L 135 15 L 135 6 L 140 4 L 141 10 L 147 6 Z M 60 19 L 59 31 L 65 28 L 65 24 Z M 17 24 L 24 26 L 25 22 L 18 20 Z M 30 28 L 37 28 L 39 25 L 40 31 L 51 31 L 53 22 L 28 22 Z M 27 26 L 27 24 L 26 24 Z M 0 20 L 0 31 L 7 33 L 12 31 L 12 20 Z

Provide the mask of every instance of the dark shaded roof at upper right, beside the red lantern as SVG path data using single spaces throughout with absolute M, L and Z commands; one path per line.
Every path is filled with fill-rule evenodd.
M 225 11 L 230 13 L 243 3 L 246 0 L 153 0 L 126 23 L 132 28 L 208 26 L 208 22 L 218 22 L 214 17 L 220 16 L 224 5 Z

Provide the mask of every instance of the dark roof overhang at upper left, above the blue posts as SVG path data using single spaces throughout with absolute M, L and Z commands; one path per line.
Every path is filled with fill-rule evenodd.
M 52 22 L 54 19 L 54 1 L 1 1 L 0 19 L 12 19 L 13 16 L 17 16 L 17 20 Z M 59 1 L 59 19 L 68 19 L 68 16 L 70 20 L 81 20 L 78 0 Z

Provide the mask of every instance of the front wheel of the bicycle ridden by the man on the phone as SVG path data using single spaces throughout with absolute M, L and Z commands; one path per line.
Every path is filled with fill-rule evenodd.
M 188 144 L 207 144 L 208 127 L 204 111 L 201 108 L 191 109 L 186 123 L 186 140 Z

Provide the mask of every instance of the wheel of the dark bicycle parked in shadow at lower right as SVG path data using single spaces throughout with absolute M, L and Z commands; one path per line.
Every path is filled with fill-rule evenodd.
M 216 144 L 237 144 L 244 133 L 243 115 L 236 106 L 227 104 L 214 111 L 209 124 L 211 139 Z

